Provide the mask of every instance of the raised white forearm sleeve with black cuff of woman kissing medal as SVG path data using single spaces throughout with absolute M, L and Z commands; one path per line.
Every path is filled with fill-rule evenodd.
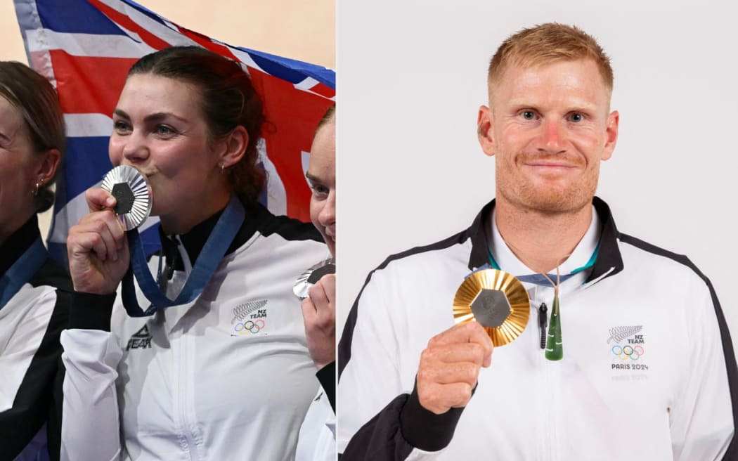
M 62 460 L 120 459 L 115 381 L 123 350 L 109 331 L 114 299 L 114 295 L 72 295 L 69 330 L 61 333 Z

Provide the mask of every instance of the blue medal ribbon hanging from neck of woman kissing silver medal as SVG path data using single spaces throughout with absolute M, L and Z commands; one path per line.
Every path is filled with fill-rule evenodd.
M 187 282 L 184 283 L 184 287 L 182 287 L 182 291 L 179 292 L 176 299 L 169 299 L 159 290 L 159 285 L 148 268 L 146 254 L 143 251 L 138 230 L 128 231 L 131 267 L 128 268 L 123 277 L 123 306 L 128 315 L 131 317 L 151 316 L 160 308 L 187 304 L 199 297 L 205 285 L 213 277 L 215 269 L 218 268 L 218 264 L 225 256 L 233 238 L 238 234 L 238 229 L 241 229 L 245 217 L 246 212 L 243 205 L 241 205 L 241 201 L 235 195 L 232 195 L 223 214 L 215 223 L 213 232 L 210 232 L 210 236 L 207 238 L 205 246 L 202 247 L 192 272 L 187 277 Z M 134 277 L 136 277 L 139 288 L 141 288 L 146 299 L 151 302 L 151 305 L 145 310 L 139 306 Z M 159 277 L 161 277 L 161 265 L 156 277 L 157 280 Z

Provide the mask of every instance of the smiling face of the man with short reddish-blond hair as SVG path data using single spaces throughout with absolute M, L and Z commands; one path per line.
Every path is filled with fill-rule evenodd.
M 619 117 L 608 114 L 610 90 L 593 60 L 510 66 L 494 85 L 490 107 L 486 116 L 480 110 L 480 142 L 497 158 L 498 198 L 540 212 L 590 204 L 599 164 L 615 148 Z

